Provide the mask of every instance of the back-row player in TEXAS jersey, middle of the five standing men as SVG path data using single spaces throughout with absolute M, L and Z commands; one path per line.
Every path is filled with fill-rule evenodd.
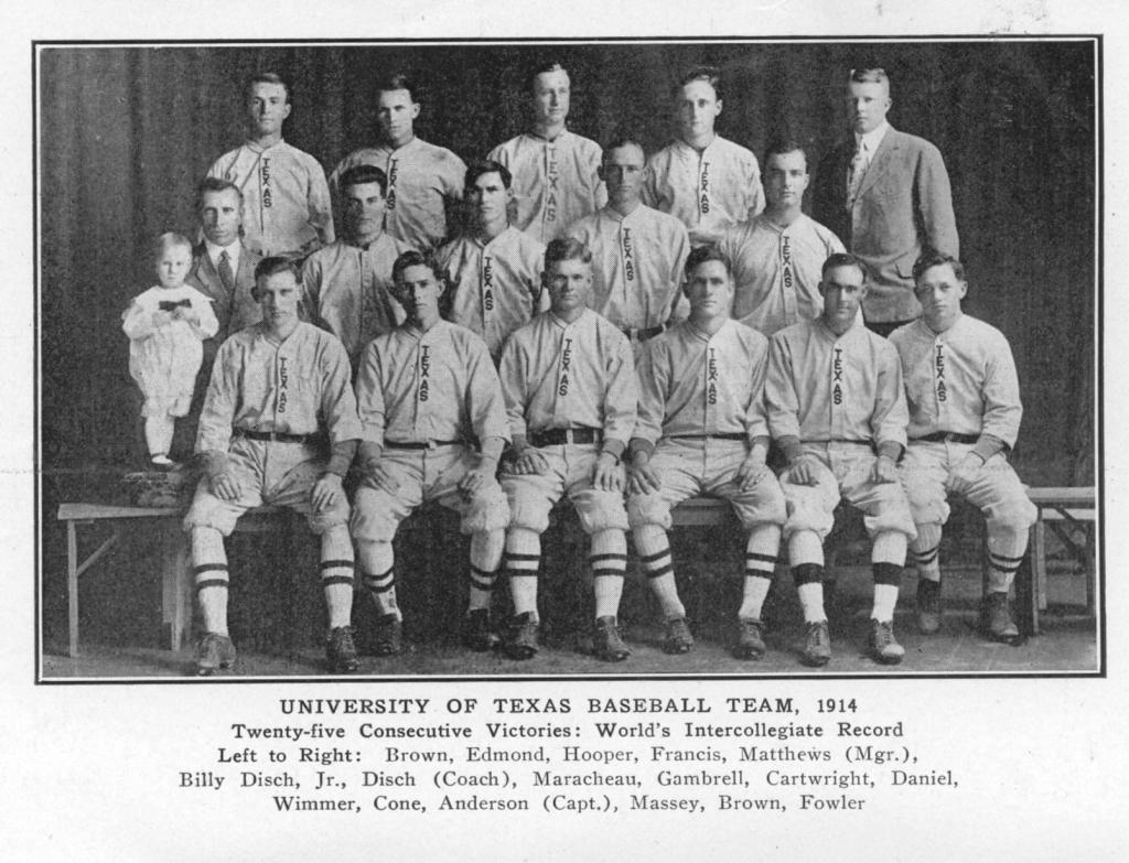
M 568 72 L 559 63 L 533 76 L 533 131 L 490 151 L 514 176 L 514 224 L 540 243 L 607 201 L 599 179 L 599 144 L 564 127 L 569 108 Z

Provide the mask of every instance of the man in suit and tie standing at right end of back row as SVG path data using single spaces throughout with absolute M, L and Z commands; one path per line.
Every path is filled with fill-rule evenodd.
M 928 141 L 886 122 L 890 80 L 854 69 L 847 81 L 852 134 L 820 165 L 813 212 L 870 271 L 863 314 L 879 335 L 916 319 L 913 263 L 925 249 L 960 254 L 945 162 Z

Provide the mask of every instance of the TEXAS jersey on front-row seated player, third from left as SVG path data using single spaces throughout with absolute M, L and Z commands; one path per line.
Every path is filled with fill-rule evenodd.
M 567 324 L 552 311 L 516 331 L 501 355 L 514 435 L 602 429 L 624 446 L 636 424 L 638 386 L 627 336 L 590 309 Z

